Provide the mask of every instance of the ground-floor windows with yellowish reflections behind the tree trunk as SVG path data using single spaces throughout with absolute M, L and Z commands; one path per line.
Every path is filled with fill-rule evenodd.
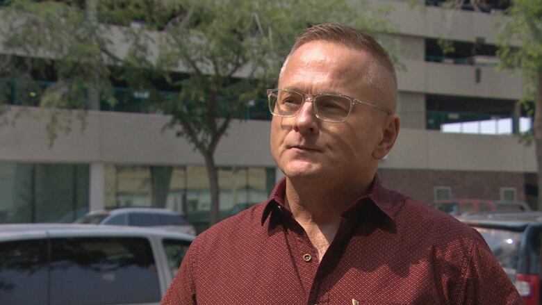
M 221 217 L 265 201 L 274 187 L 274 167 L 217 170 Z M 198 222 L 199 218 L 204 222 L 208 215 L 203 214 L 211 209 L 210 186 L 203 165 L 106 165 L 106 186 L 106 208 L 169 208 L 188 215 L 189 220 L 197 216 Z

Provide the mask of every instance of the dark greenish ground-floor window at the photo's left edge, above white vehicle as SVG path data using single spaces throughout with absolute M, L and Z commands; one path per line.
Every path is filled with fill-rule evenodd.
M 88 212 L 88 164 L 0 162 L 0 223 L 73 222 Z

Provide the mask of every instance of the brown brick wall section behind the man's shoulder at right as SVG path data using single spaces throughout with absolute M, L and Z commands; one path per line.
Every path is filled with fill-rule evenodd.
M 500 188 L 516 188 L 519 201 L 525 201 L 525 174 L 518 172 L 463 172 L 439 170 L 378 171 L 391 190 L 422 202 L 434 201 L 434 187 L 452 188 L 454 198 L 500 199 Z

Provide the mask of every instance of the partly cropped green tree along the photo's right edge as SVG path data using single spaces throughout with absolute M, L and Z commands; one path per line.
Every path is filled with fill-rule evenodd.
M 503 67 L 519 69 L 525 81 L 524 104 L 534 108 L 532 132 L 538 166 L 539 211 L 542 211 L 542 0 L 512 0 L 509 20 L 499 35 Z

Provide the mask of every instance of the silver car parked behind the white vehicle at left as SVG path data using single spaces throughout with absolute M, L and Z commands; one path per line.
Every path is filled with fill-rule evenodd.
M 75 221 L 79 224 L 114 224 L 117 226 L 161 226 L 195 235 L 194 226 L 186 218 L 165 208 L 115 208 L 91 211 Z

